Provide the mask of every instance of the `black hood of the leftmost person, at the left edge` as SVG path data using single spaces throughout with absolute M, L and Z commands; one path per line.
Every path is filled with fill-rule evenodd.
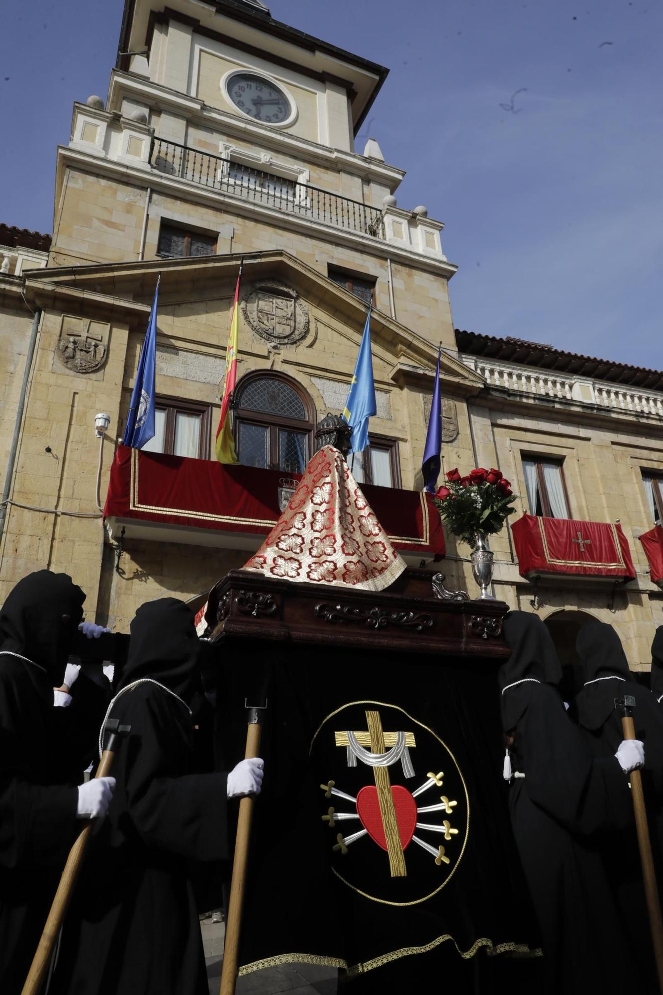
M 86 596 L 66 573 L 38 570 L 20 580 L 0 610 L 0 649 L 43 668 L 54 688 L 65 679 Z M 63 621 L 63 616 L 67 616 Z

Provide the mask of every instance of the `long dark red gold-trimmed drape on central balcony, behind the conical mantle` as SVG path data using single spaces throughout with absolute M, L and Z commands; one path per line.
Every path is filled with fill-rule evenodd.
M 300 474 L 119 446 L 104 515 L 265 536 L 281 515 L 279 489 L 286 477 L 301 480 Z M 442 523 L 430 495 L 368 484 L 361 490 L 396 549 L 444 556 Z

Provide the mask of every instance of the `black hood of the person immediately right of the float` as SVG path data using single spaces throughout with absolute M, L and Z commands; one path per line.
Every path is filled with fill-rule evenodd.
M 548 627 L 538 615 L 509 612 L 504 620 L 504 635 L 511 657 L 500 668 L 499 681 L 503 691 L 502 724 L 509 732 L 516 727 L 537 687 L 534 681 L 525 679 L 534 678 L 556 688 L 561 681 L 561 664 Z M 517 684 L 519 681 L 524 683 Z

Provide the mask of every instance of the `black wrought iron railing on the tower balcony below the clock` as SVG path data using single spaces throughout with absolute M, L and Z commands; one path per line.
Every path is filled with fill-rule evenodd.
M 308 183 L 298 183 L 163 138 L 152 140 L 149 161 L 153 169 L 168 176 L 177 176 L 311 221 L 384 238 L 382 213 L 378 208 Z

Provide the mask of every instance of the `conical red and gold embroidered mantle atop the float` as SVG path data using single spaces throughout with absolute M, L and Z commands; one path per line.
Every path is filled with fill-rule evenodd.
M 342 455 L 325 446 L 244 566 L 300 583 L 383 591 L 405 569 Z

